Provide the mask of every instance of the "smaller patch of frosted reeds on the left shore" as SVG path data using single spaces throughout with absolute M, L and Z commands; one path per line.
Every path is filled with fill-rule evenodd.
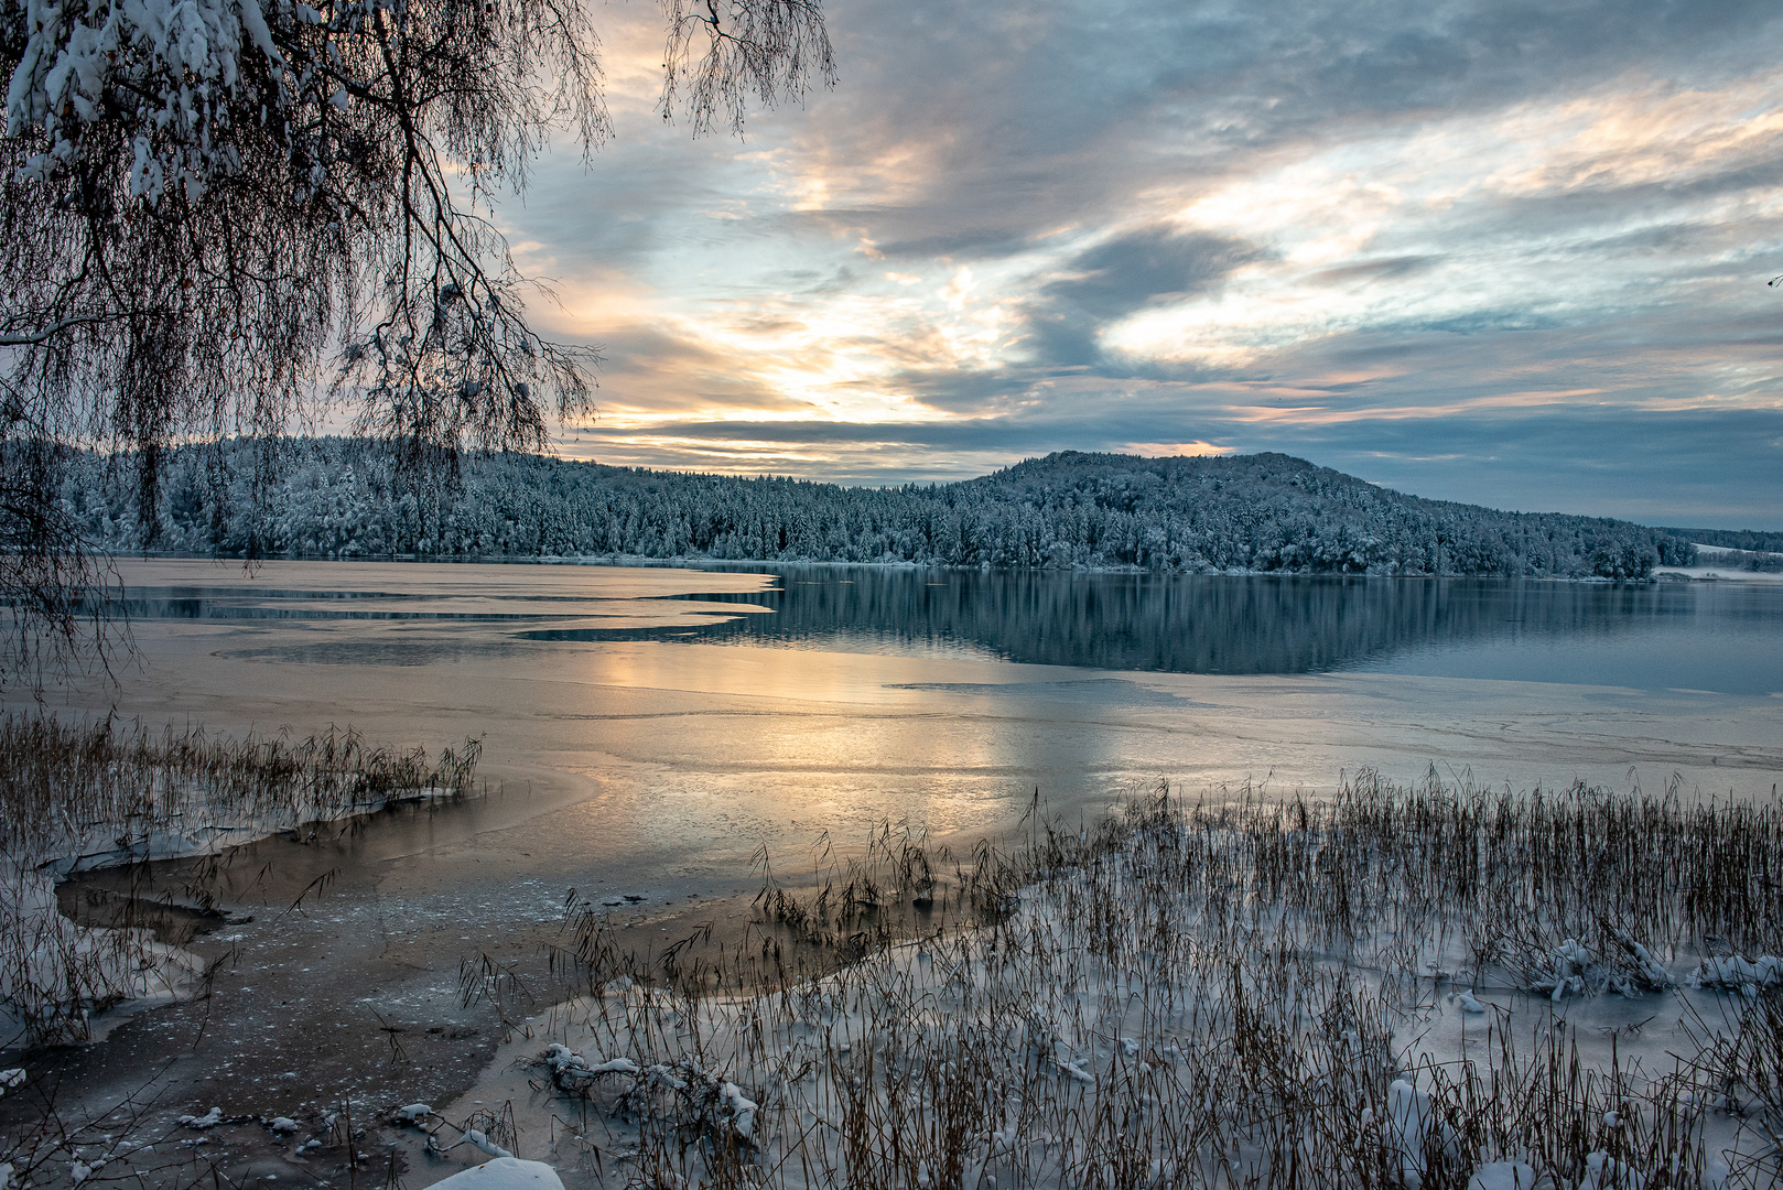
M 478 744 L 374 749 L 351 731 L 305 740 L 155 735 L 109 723 L 0 719 L 0 1047 L 84 1040 L 94 1013 L 185 996 L 203 971 L 152 930 L 61 915 L 73 871 L 216 855 L 280 831 L 467 787 Z

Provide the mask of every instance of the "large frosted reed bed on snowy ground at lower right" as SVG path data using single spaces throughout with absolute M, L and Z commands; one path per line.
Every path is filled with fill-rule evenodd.
M 981 851 L 924 894 L 974 928 L 822 978 L 578 946 L 471 1094 L 612 1186 L 1769 1186 L 1783 988 L 1724 960 L 1776 953 L 1779 860 L 1774 806 L 1676 796 L 1150 797 Z

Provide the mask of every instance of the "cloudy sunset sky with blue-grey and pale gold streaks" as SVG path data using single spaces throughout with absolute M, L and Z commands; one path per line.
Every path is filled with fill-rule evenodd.
M 1774 0 L 831 0 L 838 80 L 496 212 L 597 344 L 572 459 L 850 485 L 1286 451 L 1398 491 L 1783 528 Z

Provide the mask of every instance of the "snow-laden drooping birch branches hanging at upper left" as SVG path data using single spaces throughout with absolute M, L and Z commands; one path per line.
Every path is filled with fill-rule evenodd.
M 695 130 L 833 77 L 813 0 L 708 5 L 697 66 L 688 11 L 663 102 Z M 592 351 L 531 328 L 485 218 L 553 132 L 608 136 L 583 0 L 0 0 L 0 446 L 121 451 L 148 541 L 180 441 L 348 403 L 449 471 L 590 410 Z

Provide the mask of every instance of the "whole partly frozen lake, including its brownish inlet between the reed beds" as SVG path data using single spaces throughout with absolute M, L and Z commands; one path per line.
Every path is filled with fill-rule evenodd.
M 781 876 L 884 826 L 965 851 L 1036 790 L 1075 821 L 1159 780 L 1327 796 L 1360 767 L 1687 797 L 1767 799 L 1783 778 L 1783 583 L 121 569 L 136 658 L 112 687 L 52 690 L 52 710 L 474 735 L 489 796 L 242 849 L 223 894 L 257 921 L 194 944 L 230 960 L 223 994 L 201 1019 L 132 1021 L 102 1063 L 68 1058 L 93 1094 L 162 1067 L 205 1104 L 257 1103 L 287 1067 L 314 1103 L 458 1094 L 490 1051 L 389 1067 L 378 1021 L 487 1028 L 460 963 L 537 969 L 569 888 L 637 897 L 615 910 L 622 940 L 667 944 L 747 921 L 758 849 Z M 205 1029 L 230 1038 L 226 1062 L 196 1056 Z

